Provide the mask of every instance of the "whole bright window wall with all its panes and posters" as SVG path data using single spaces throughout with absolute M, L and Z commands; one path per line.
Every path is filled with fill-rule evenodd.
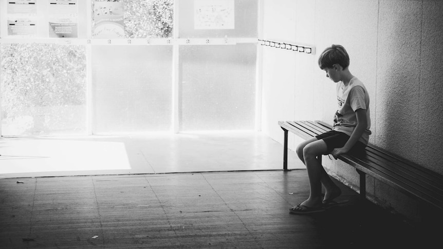
M 9 2 L 2 136 L 255 128 L 257 0 Z

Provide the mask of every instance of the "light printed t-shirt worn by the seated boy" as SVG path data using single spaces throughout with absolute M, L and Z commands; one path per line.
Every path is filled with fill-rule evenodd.
M 369 135 L 371 135 L 371 118 L 369 110 L 369 94 L 363 83 L 354 76 L 345 86 L 343 82 L 337 83 L 337 101 L 338 110 L 334 117 L 334 130 L 352 135 L 357 126 L 357 117 L 355 111 L 358 109 L 366 110 L 367 128 L 359 139 L 363 144 L 367 144 Z

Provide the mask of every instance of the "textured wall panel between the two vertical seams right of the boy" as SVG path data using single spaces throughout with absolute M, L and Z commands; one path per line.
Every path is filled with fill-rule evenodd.
M 416 154 L 420 127 L 421 1 L 382 1 L 377 53 L 376 144 Z

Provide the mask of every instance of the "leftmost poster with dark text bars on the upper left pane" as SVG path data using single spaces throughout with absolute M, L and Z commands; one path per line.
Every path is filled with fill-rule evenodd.
M 7 5 L 8 36 L 37 36 L 37 0 L 10 1 Z

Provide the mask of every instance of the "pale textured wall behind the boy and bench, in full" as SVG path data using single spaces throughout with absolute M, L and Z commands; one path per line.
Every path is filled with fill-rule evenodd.
M 283 141 L 279 120 L 332 124 L 335 84 L 317 64 L 331 44 L 343 45 L 350 71 L 371 98 L 370 142 L 443 174 L 443 1 L 263 0 L 263 33 L 272 41 L 305 43 L 315 55 L 261 46 L 262 130 Z M 300 142 L 291 136 L 291 149 Z M 354 168 L 323 159 L 331 175 L 358 186 Z M 289 162 L 291 163 L 291 162 Z M 417 203 L 374 179 L 374 201 L 417 218 Z M 419 213 L 419 212 L 418 212 Z

